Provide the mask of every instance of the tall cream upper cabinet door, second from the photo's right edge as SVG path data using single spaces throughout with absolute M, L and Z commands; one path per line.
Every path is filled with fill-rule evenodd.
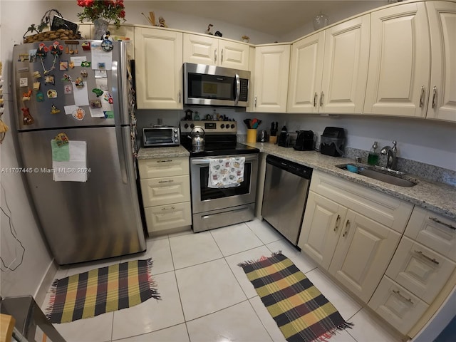
M 425 4 L 371 13 L 371 52 L 364 113 L 425 117 L 430 39 Z

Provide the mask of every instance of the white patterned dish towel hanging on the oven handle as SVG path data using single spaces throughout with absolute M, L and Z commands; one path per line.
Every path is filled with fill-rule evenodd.
M 244 182 L 245 157 L 209 159 L 207 187 L 239 187 Z

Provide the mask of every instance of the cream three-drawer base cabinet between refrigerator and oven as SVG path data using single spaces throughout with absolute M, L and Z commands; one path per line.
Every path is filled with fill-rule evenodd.
M 192 224 L 188 157 L 138 160 L 147 232 Z

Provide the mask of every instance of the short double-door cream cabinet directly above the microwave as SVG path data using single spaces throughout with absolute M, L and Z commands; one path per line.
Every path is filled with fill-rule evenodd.
M 184 33 L 184 62 L 249 70 L 249 45 Z

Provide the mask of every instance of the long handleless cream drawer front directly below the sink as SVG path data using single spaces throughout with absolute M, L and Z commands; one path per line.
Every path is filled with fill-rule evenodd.
M 413 204 L 314 170 L 310 190 L 403 233 Z

